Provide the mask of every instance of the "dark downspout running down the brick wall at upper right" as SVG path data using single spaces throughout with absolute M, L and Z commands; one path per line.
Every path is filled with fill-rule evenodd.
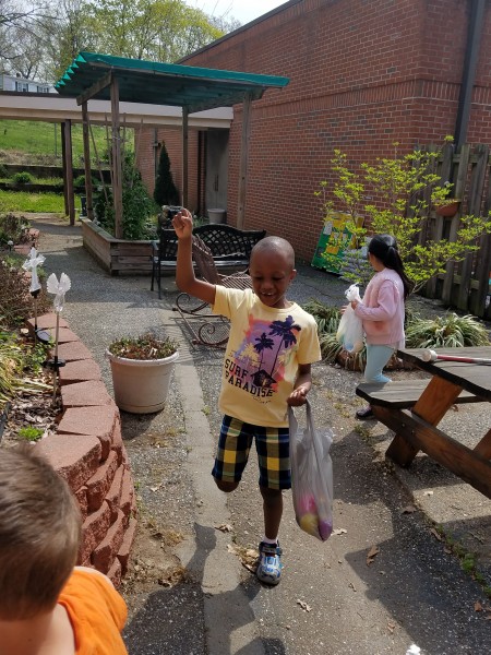
M 469 126 L 472 90 L 476 81 L 476 68 L 481 45 L 482 23 L 486 0 L 469 0 L 470 15 L 467 31 L 466 56 L 464 60 L 464 74 L 458 97 L 457 118 L 455 121 L 454 144 L 459 148 L 466 142 Z

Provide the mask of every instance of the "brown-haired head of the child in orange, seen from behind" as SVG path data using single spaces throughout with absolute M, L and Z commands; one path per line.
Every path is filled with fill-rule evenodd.
M 57 604 L 79 552 L 81 515 L 67 483 L 33 446 L 0 452 L 0 620 Z

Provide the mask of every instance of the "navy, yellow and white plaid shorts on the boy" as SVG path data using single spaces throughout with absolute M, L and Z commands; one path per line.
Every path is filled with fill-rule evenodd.
M 213 477 L 226 483 L 240 481 L 254 438 L 260 486 L 268 489 L 289 489 L 291 477 L 288 428 L 253 426 L 227 415 L 221 422 Z

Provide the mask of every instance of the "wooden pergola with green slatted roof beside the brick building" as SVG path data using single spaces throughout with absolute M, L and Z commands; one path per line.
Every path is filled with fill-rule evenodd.
M 283 88 L 288 78 L 258 75 L 175 63 L 127 59 L 95 52 L 80 52 L 55 85 L 60 95 L 76 98 L 82 106 L 87 215 L 93 218 L 91 177 L 89 99 L 110 100 L 111 106 L 111 180 L 115 204 L 115 236 L 122 237 L 122 157 L 119 103 L 169 105 L 182 110 L 182 205 L 188 205 L 188 130 L 189 115 L 217 107 L 243 104 L 239 171 L 237 224 L 244 224 L 248 147 L 251 103 L 267 88 Z M 71 148 L 70 130 L 65 148 Z M 71 152 L 71 150 L 70 150 Z M 68 157 L 64 158 L 68 160 Z M 68 196 L 73 199 L 72 176 L 65 176 Z

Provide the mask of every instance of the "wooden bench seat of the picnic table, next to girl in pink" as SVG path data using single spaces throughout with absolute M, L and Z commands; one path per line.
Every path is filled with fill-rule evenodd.
M 356 389 L 356 394 L 364 398 L 370 405 L 380 407 L 394 407 L 405 409 L 412 407 L 419 401 L 422 392 L 430 380 L 398 380 L 383 383 L 362 382 Z M 462 391 L 456 403 L 479 403 L 482 398 L 468 392 Z

